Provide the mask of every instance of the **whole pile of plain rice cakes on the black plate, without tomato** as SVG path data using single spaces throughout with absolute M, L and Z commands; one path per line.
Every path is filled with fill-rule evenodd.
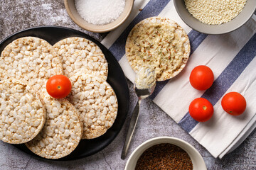
M 58 56 L 63 52 L 63 47 L 68 47 L 68 50 Z M 103 135 L 117 115 L 117 98 L 110 85 L 106 85 L 107 72 L 107 61 L 100 48 L 84 38 L 67 38 L 57 42 L 54 48 L 40 38 L 14 40 L 5 47 L 0 58 L 1 101 L 7 101 L 1 103 L 0 107 L 0 139 L 15 144 L 25 143 L 28 149 L 41 157 L 58 159 L 73 152 L 82 138 L 92 139 Z M 46 81 L 57 74 L 70 77 L 73 84 L 72 93 L 66 99 L 52 98 L 46 91 Z M 107 98 L 111 98 L 112 105 L 104 104 L 103 110 L 100 110 L 104 111 L 105 117 L 101 115 L 103 112 L 92 111 L 104 96 L 95 92 L 102 91 L 98 83 L 93 88 L 88 85 L 91 87 L 89 98 L 81 96 L 88 93 L 88 88 L 75 89 L 83 86 L 87 77 L 99 79 L 100 85 L 104 84 L 102 86 L 112 90 L 112 95 L 106 94 L 104 99 L 107 101 Z M 9 89 L 6 84 L 11 84 Z M 99 97 L 101 99 L 97 100 Z M 79 101 L 81 98 L 83 101 Z M 90 107 L 85 101 L 90 100 L 90 103 L 92 98 L 98 103 Z M 31 103 L 33 106 L 30 106 Z M 22 109 L 18 110 L 16 106 Z M 79 109 L 82 106 L 87 110 Z M 13 125 L 18 121 L 20 128 L 16 130 Z

